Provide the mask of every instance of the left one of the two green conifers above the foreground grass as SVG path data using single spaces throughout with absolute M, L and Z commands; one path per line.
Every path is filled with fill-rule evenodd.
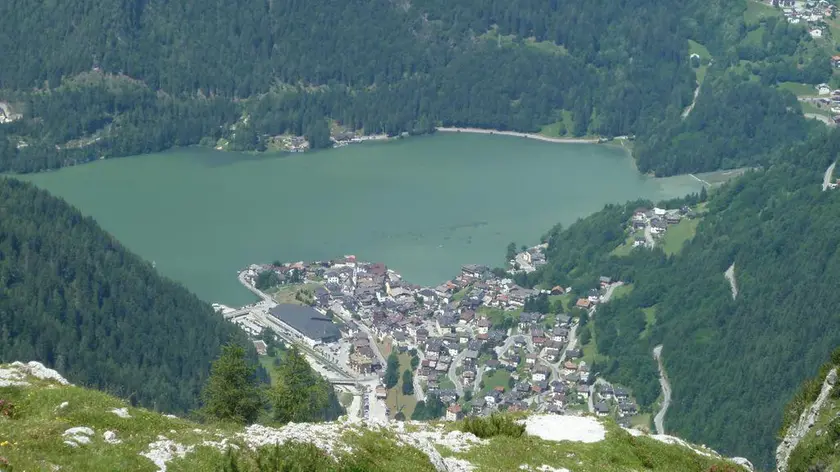
M 221 421 L 253 423 L 262 407 L 255 372 L 242 346 L 223 346 L 201 395 L 204 414 Z

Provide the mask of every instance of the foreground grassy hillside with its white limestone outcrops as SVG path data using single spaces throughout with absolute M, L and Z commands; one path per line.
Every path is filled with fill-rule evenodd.
M 461 431 L 462 422 L 199 425 L 66 385 L 37 363 L 0 367 L 3 470 L 749 470 L 677 438 L 631 434 L 592 417 L 524 422 L 525 434 L 480 433 L 485 439 Z

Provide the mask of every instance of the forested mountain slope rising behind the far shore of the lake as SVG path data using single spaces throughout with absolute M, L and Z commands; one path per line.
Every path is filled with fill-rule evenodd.
M 267 136 L 322 134 L 326 119 L 390 134 L 551 123 L 570 135 L 644 134 L 691 102 L 687 39 L 737 31 L 729 23 L 743 9 L 743 0 L 2 2 L 0 101 L 23 119 L 0 125 L 0 169 L 223 137 L 261 149 Z

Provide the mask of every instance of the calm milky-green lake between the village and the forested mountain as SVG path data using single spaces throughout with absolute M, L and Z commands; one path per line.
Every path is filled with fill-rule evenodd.
M 436 285 L 606 203 L 700 189 L 642 176 L 614 147 L 468 134 L 293 155 L 180 149 L 23 177 L 232 306 L 253 301 L 236 271 L 254 262 L 355 254 Z

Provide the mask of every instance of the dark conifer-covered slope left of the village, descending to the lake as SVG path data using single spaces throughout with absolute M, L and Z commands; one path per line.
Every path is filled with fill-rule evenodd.
M 73 382 L 185 412 L 229 340 L 244 337 L 92 219 L 0 179 L 0 360 L 38 360 Z

